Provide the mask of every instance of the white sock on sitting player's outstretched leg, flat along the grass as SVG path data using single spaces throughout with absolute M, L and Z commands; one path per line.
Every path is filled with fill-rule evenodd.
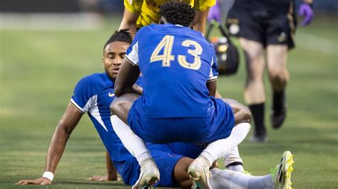
M 236 171 L 220 170 L 213 168 L 211 170 L 212 178 L 210 185 L 212 188 L 275 188 L 271 180 L 271 175 L 253 176 Z

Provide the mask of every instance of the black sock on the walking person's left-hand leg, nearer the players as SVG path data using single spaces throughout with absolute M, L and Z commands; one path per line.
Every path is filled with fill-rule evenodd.
M 265 103 L 249 105 L 255 123 L 255 133 L 265 133 L 264 107 Z

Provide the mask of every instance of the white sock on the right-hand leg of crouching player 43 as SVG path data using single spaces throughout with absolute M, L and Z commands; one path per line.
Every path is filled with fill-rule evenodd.
M 211 165 L 218 158 L 226 157 L 232 148 L 238 146 L 245 139 L 249 131 L 249 123 L 237 124 L 227 139 L 220 139 L 210 143 L 200 156 L 207 158 Z

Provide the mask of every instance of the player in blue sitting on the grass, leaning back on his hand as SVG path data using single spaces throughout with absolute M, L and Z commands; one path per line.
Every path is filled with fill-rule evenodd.
M 41 178 L 21 180 L 18 184 L 48 185 L 52 183 L 53 173 L 55 173 L 58 161 L 66 147 L 66 141 L 85 112 L 88 112 L 88 116 L 96 127 L 104 146 L 108 153 L 111 154 L 111 161 L 115 164 L 124 182 L 128 185 L 136 182 L 140 174 L 140 167 L 135 158 L 123 147 L 118 136 L 114 133 L 109 109 L 109 105 L 115 98 L 113 82 L 121 66 L 121 60 L 131 41 L 131 36 L 126 31 L 114 33 L 107 41 L 103 51 L 103 63 L 106 72 L 83 77 L 78 82 L 78 85 L 76 85 L 71 102 L 68 104 L 65 114 L 56 127 L 48 149 L 45 168 L 45 171 L 48 172 L 44 173 Z M 141 83 L 139 82 L 139 84 Z M 160 167 L 162 175 L 160 185 L 172 187 L 190 187 L 192 185 L 193 181 L 189 179 L 188 174 L 185 172 L 193 161 L 193 158 L 197 157 L 202 151 L 200 146 L 180 143 L 149 144 L 148 146 Z M 287 159 L 285 158 L 285 160 Z M 239 167 L 242 169 L 241 165 L 234 166 L 237 161 L 241 161 L 241 159 L 238 151 L 235 151 L 231 156 L 226 157 L 225 165 L 230 164 L 228 168 L 232 170 Z M 109 166 L 109 163 L 107 165 Z M 282 167 L 282 173 L 286 173 L 285 166 L 280 167 Z M 111 175 L 111 170 L 112 168 L 108 167 L 108 175 Z M 276 178 L 279 178 L 281 175 L 278 175 L 279 172 L 261 177 L 245 175 L 234 171 L 220 171 L 218 169 L 214 169 L 212 172 L 215 173 L 215 180 L 220 180 L 210 180 L 215 188 L 218 185 L 225 188 L 230 188 L 231 185 L 237 185 L 241 188 L 272 188 L 273 185 L 280 185 L 279 182 L 276 182 Z M 96 176 L 96 178 L 104 177 Z M 285 182 L 285 180 L 287 181 L 289 178 L 283 177 L 282 182 Z

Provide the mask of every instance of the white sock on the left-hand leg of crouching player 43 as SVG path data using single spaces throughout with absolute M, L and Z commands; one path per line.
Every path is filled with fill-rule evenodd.
M 146 159 L 151 158 L 145 143 L 130 129 L 130 126 L 125 124 L 116 115 L 111 116 L 111 124 L 118 138 L 122 141 L 123 146 L 137 159 L 140 165 Z

